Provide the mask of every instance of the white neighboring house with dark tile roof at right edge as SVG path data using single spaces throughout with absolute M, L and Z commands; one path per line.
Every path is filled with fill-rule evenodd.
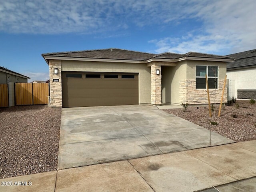
M 227 55 L 228 99 L 256 99 L 256 49 Z

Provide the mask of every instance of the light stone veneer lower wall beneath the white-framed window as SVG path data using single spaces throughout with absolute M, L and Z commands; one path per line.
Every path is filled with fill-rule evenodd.
M 220 103 L 224 80 L 218 80 L 218 89 L 216 89 L 216 103 Z M 210 103 L 214 103 L 214 89 L 209 89 Z M 227 83 L 225 86 L 222 103 L 227 102 Z M 208 95 L 206 89 L 196 89 L 196 80 L 180 80 L 180 104 L 208 104 Z

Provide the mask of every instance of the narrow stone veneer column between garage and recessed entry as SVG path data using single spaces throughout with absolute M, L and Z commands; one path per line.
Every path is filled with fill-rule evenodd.
M 160 70 L 160 74 L 156 74 L 156 70 Z M 153 64 L 151 66 L 151 104 L 162 104 L 162 74 L 161 66 Z

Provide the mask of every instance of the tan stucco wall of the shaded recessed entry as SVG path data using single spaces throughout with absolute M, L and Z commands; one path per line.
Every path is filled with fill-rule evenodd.
M 186 61 L 177 66 L 162 66 L 162 102 L 179 103 L 180 80 L 186 79 Z

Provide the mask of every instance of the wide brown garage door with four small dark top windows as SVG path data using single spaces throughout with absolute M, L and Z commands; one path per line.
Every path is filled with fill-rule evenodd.
M 138 104 L 138 74 L 62 72 L 63 107 Z

